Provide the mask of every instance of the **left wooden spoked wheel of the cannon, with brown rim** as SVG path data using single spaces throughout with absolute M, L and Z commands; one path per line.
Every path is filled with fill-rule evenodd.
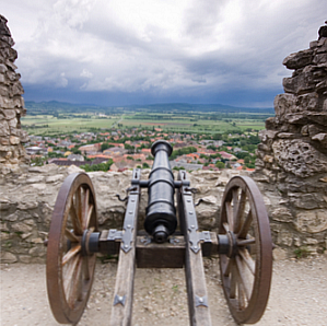
M 82 240 L 97 231 L 95 194 L 85 173 L 69 175 L 57 197 L 47 246 L 47 290 L 60 324 L 77 324 L 91 292 L 95 255 Z

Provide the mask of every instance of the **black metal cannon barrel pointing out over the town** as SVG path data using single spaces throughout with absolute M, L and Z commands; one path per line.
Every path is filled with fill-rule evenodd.
M 154 162 L 149 176 L 144 229 L 157 243 L 165 242 L 177 226 L 174 175 L 168 161 L 172 152 L 172 145 L 164 140 L 151 147 Z

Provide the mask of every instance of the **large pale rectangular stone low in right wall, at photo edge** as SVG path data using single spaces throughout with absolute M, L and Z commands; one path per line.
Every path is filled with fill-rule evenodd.
M 300 212 L 294 221 L 299 232 L 318 233 L 327 230 L 327 214 L 324 210 Z

